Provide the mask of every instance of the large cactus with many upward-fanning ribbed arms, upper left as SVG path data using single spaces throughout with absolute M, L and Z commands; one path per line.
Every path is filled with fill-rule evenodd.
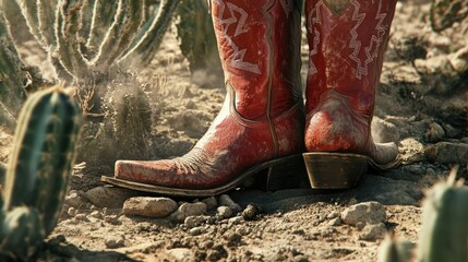
M 148 63 L 180 0 L 160 0 L 149 15 L 148 0 L 3 1 L 17 2 L 58 74 L 81 80 L 106 74 L 116 64 Z

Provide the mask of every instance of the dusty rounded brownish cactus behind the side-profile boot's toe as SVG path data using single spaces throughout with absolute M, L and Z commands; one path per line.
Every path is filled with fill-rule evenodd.
M 129 72 L 118 72 L 111 79 L 101 95 L 101 119 L 84 123 L 77 145 L 77 159 L 91 168 L 112 167 L 119 158 L 148 157 L 153 128 L 149 92 Z

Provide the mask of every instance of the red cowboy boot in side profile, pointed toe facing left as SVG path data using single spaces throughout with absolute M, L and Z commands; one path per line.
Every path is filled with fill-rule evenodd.
M 298 2 L 212 0 L 228 91 L 221 111 L 184 156 L 118 160 L 115 178 L 103 180 L 141 191 L 202 196 L 232 189 L 262 169 L 269 168 L 269 180 L 274 169 L 291 172 L 301 166 Z M 288 172 L 279 172 L 279 183 L 293 180 Z

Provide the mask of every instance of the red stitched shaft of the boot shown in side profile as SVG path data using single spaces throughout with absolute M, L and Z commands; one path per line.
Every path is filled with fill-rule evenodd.
M 301 98 L 297 0 L 212 0 L 211 11 L 236 110 L 269 121 Z M 229 95 L 229 94 L 228 94 Z

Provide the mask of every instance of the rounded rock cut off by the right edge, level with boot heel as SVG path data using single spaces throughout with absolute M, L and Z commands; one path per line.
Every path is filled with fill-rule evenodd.
M 429 146 L 425 152 L 429 160 L 440 164 L 465 164 L 468 159 L 468 144 L 454 142 L 440 142 Z

